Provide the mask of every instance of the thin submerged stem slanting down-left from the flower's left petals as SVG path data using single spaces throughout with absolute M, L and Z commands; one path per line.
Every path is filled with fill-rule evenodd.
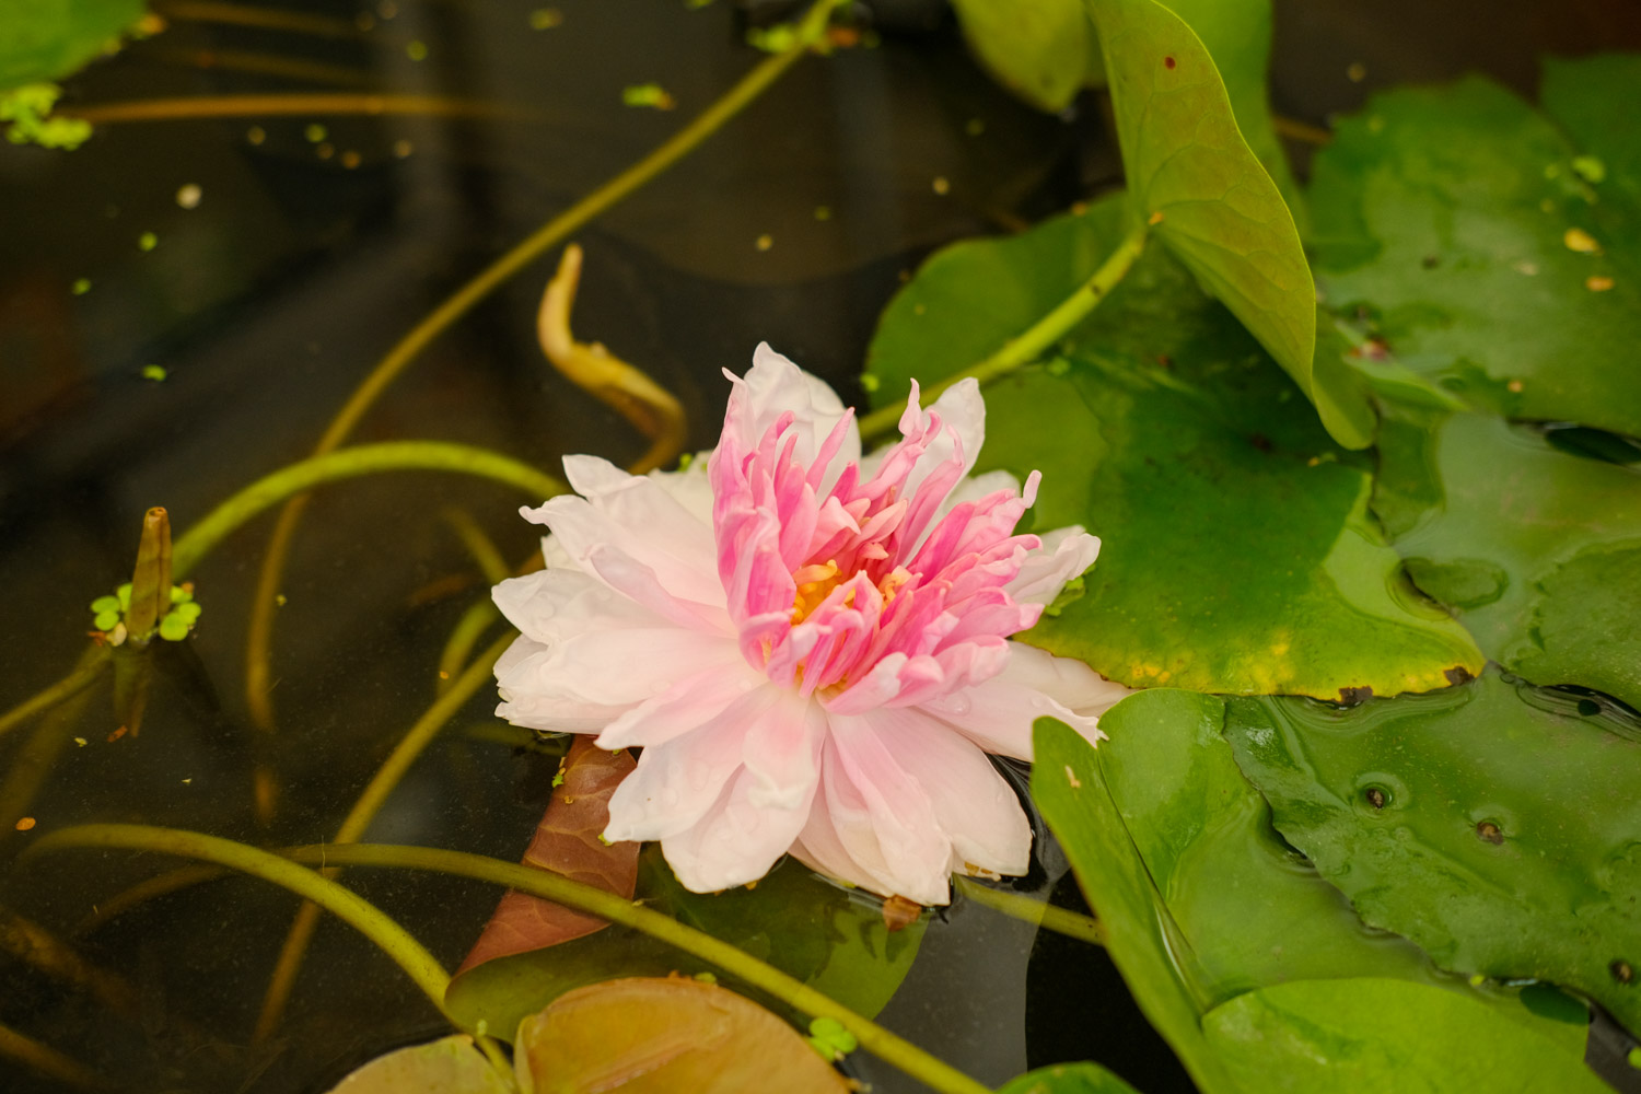
M 507 650 L 515 635 L 517 631 L 509 630 L 489 650 L 474 658 L 468 671 L 451 682 L 450 691 L 435 699 L 427 713 L 417 718 L 415 725 L 410 727 L 399 745 L 394 746 L 394 751 L 387 754 L 387 759 L 382 761 L 382 766 L 376 769 L 376 776 L 366 784 L 353 809 L 348 810 L 341 827 L 336 828 L 336 843 L 353 843 L 364 835 L 364 830 L 376 820 L 382 805 L 387 804 L 387 795 L 404 779 L 410 764 L 417 761 L 438 732 L 445 728 L 445 723 L 461 710 L 463 704 L 489 682 L 491 666 L 496 664 L 496 658 Z M 327 869 L 323 873 L 325 877 L 335 877 L 338 871 Z M 263 1012 L 256 1019 L 256 1032 L 251 1035 L 253 1043 L 267 1040 L 279 1028 L 286 1004 L 290 1001 L 290 989 L 295 987 L 297 973 L 302 971 L 302 960 L 307 956 L 309 943 L 318 928 L 318 912 L 317 902 L 304 904 L 297 910 L 297 917 L 290 923 L 290 933 L 286 935 L 286 945 L 279 951 L 279 961 L 274 964 L 274 973 L 269 978 L 267 992 L 263 996 Z

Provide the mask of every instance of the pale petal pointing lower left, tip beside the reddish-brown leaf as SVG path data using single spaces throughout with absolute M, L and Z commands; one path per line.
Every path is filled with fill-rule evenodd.
M 694 827 L 740 773 L 742 738 L 778 699 L 773 687 L 748 692 L 717 718 L 645 748 L 637 769 L 610 795 L 604 836 L 665 840 Z

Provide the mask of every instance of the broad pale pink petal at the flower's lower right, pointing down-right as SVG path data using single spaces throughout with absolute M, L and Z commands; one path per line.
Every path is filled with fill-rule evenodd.
M 1031 822 L 1008 781 L 978 745 L 917 710 L 880 710 L 868 718 L 876 738 L 929 795 L 952 841 L 953 873 L 1024 874 Z

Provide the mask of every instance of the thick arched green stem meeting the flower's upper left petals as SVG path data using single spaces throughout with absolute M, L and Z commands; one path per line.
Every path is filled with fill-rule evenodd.
M 264 508 L 325 482 L 353 479 L 379 471 L 453 471 L 515 485 L 535 499 L 553 497 L 555 494 L 563 494 L 566 489 L 558 479 L 528 464 L 469 444 L 453 444 L 448 441 L 387 441 L 382 444 L 343 448 L 323 456 L 302 459 L 289 467 L 281 467 L 213 508 L 205 520 L 189 528 L 187 535 L 176 541 L 172 549 L 176 576 L 181 577 L 194 569 L 223 536 Z

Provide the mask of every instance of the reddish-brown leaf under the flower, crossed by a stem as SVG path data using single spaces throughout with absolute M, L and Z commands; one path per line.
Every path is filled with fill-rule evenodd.
M 560 768 L 563 781 L 553 787 L 546 814 L 523 853 L 523 864 L 550 869 L 630 900 L 638 884 L 640 845 L 604 843 L 599 833 L 609 823 L 610 794 L 633 769 L 633 763 L 630 753 L 607 753 L 591 736 L 578 735 Z M 597 917 L 561 904 L 507 892 L 456 976 L 494 958 L 556 946 L 606 925 Z

